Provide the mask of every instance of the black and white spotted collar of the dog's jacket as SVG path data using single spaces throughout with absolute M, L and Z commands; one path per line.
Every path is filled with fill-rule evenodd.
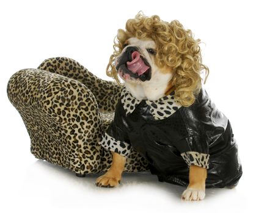
M 123 105 L 123 109 L 125 110 L 126 116 L 133 113 L 137 105 L 141 103 L 142 100 L 136 99 L 132 94 L 123 87 L 121 93 L 121 103 Z M 170 93 L 167 96 L 161 97 L 158 100 L 145 100 L 148 106 L 150 106 L 150 112 L 152 116 L 156 120 L 165 119 L 170 115 L 174 114 L 181 105 L 178 103 L 178 100 L 174 98 L 174 92 Z

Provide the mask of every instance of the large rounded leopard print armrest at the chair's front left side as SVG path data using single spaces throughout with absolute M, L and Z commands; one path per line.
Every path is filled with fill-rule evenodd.
M 90 89 L 63 75 L 23 69 L 10 78 L 7 95 L 23 118 L 36 158 L 80 174 L 101 171 L 103 128 Z

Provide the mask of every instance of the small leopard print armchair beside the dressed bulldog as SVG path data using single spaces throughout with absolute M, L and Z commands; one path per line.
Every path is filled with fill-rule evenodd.
M 98 142 L 114 118 L 122 86 L 102 80 L 71 58 L 46 59 L 37 69 L 10 78 L 7 94 L 31 138 L 31 153 L 77 176 L 105 172 L 111 152 Z M 125 172 L 148 170 L 139 153 L 130 153 Z

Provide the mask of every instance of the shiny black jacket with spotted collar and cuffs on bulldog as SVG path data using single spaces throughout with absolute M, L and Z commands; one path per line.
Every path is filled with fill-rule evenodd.
M 189 107 L 174 93 L 153 102 L 124 88 L 100 144 L 122 156 L 134 148 L 159 181 L 181 186 L 188 186 L 191 165 L 208 169 L 206 187 L 235 186 L 242 175 L 230 122 L 203 88 Z

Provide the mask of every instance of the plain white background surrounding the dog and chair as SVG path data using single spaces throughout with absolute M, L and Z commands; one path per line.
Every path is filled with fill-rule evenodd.
M 180 201 L 183 187 L 148 173 L 125 174 L 116 189 L 94 186 L 98 175 L 37 160 L 7 82 L 23 68 L 65 56 L 102 79 L 117 29 L 139 10 L 178 19 L 202 44 L 210 68 L 205 87 L 232 124 L 243 164 L 236 189 L 207 189 L 200 202 Z M 255 210 L 255 6 L 253 1 L 1 1 L 0 212 L 241 212 Z

